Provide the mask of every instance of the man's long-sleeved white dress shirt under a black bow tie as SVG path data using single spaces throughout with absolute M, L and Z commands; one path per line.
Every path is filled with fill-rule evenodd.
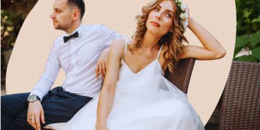
M 76 31 L 79 37 L 64 43 L 63 37 Z M 55 82 L 61 67 L 66 73 L 66 80 L 62 84 L 64 91 L 88 97 L 95 97 L 100 92 L 102 78 L 95 77 L 97 60 L 102 50 L 122 35 L 102 24 L 81 24 L 74 32 L 55 39 L 44 73 L 30 95 L 38 95 L 42 100 Z

